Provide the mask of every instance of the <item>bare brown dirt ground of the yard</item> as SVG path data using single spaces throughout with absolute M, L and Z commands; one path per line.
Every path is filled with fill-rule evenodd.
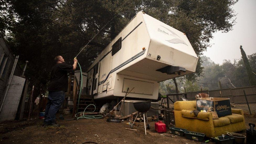
M 245 111 L 246 126 L 256 123 L 256 104 L 250 104 L 253 115 L 249 115 L 247 105 L 236 105 Z M 57 116 L 58 118 L 58 116 Z M 69 119 L 70 116 L 64 116 Z M 147 135 L 140 127 L 137 131 L 125 130 L 130 128 L 128 121 L 109 123 L 104 119 L 79 119 L 72 121 L 57 121 L 60 127 L 43 127 L 38 118 L 27 121 L 6 121 L 0 123 L 0 143 L 201 143 L 167 133 L 158 134 L 154 130 L 154 122 L 150 121 L 151 129 Z M 141 125 L 143 123 L 140 123 Z M 241 134 L 245 134 L 242 132 Z M 207 140 L 207 139 L 205 139 Z M 213 143 L 213 142 L 210 142 Z

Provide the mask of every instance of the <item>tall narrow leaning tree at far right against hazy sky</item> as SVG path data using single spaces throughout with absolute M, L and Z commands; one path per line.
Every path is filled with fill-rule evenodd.
M 245 66 L 247 74 L 248 74 L 249 82 L 250 82 L 251 86 L 255 86 L 256 85 L 256 79 L 255 79 L 255 75 L 252 73 L 252 68 L 250 66 L 249 60 L 248 60 L 248 58 L 246 56 L 246 53 L 244 52 L 242 46 L 240 46 L 240 49 L 241 49 L 241 54 L 242 54 L 244 66 Z

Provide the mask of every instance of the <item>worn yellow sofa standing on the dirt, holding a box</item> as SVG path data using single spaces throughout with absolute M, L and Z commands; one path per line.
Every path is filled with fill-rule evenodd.
M 227 132 L 246 129 L 242 109 L 232 109 L 232 115 L 212 119 L 211 113 L 199 112 L 198 116 L 191 110 L 196 109 L 196 101 L 178 101 L 174 103 L 175 126 L 188 131 L 204 133 L 207 137 L 221 136 Z

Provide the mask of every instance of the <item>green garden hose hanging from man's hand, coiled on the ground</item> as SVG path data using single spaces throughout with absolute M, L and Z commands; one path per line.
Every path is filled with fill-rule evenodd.
M 83 75 L 82 75 L 82 69 L 81 69 L 80 64 L 79 64 L 78 62 L 77 62 L 77 64 L 78 64 L 78 66 L 79 66 L 79 68 L 80 68 L 80 77 L 81 77 L 81 82 L 80 82 L 81 84 L 80 84 L 79 97 L 78 97 L 78 104 L 77 104 L 77 112 L 78 112 L 80 96 L 81 96 L 81 93 L 82 93 Z M 88 108 L 88 106 L 90 106 L 90 105 L 93 105 L 93 106 L 94 106 L 94 110 L 93 110 L 92 112 L 91 112 L 91 111 L 85 111 L 85 110 Z M 75 115 L 75 117 L 77 118 L 77 120 L 80 119 L 80 118 L 81 118 L 81 119 L 83 119 L 83 118 L 86 118 L 86 119 L 99 119 L 99 118 L 103 118 L 102 115 L 94 115 L 94 116 L 92 116 L 92 115 L 84 115 L 84 113 L 93 113 L 93 112 L 96 110 L 96 106 L 95 106 L 94 104 L 89 104 L 88 106 L 86 106 L 86 108 L 84 109 L 83 112 L 79 112 L 79 113 L 83 113 L 82 116 L 77 117 L 77 114 L 79 114 L 79 113 L 77 113 L 77 114 Z

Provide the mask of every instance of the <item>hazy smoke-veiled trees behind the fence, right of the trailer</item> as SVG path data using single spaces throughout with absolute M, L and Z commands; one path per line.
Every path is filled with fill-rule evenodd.
M 256 53 L 248 56 L 248 61 L 251 66 L 252 71 L 256 70 L 255 60 Z M 211 60 L 206 60 L 202 65 L 207 65 Z M 204 76 L 199 77 L 199 82 L 216 84 L 215 87 L 209 85 L 209 89 L 218 89 L 218 81 L 221 82 L 222 88 L 234 88 L 234 87 L 246 87 L 250 86 L 248 74 L 246 67 L 244 66 L 243 59 L 225 60 L 222 65 L 211 64 L 210 66 L 205 66 Z

